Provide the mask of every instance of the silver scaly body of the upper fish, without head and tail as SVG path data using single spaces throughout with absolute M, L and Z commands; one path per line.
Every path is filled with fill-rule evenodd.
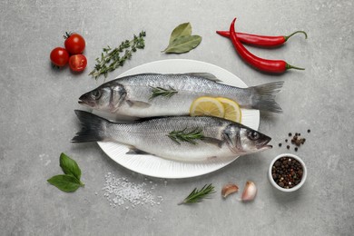
M 118 113 L 146 117 L 159 115 L 188 115 L 192 102 L 201 96 L 223 96 L 236 100 L 241 105 L 250 104 L 250 91 L 219 84 L 202 77 L 188 74 L 138 74 L 115 81 L 127 91 L 126 101 L 149 104 L 148 107 L 123 103 Z M 152 87 L 170 87 L 178 93 L 172 97 L 158 96 L 151 99 Z

